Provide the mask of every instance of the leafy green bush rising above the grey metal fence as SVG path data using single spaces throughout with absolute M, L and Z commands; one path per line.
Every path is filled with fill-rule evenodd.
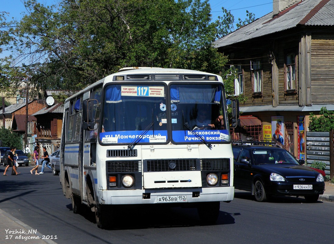
M 334 129 L 334 111 L 322 107 L 320 116 L 310 113 L 309 130 L 314 132 L 329 132 Z

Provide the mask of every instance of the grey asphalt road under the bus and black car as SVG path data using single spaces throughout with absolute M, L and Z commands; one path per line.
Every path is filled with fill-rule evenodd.
M 276 197 L 256 202 L 236 191 L 221 202 L 216 224 L 201 226 L 195 209 L 132 207 L 120 210 L 120 227 L 98 229 L 93 213 L 73 214 L 61 190 L 59 176 L 45 168 L 31 175 L 3 176 L 0 166 L 0 208 L 58 244 L 75 243 L 333 243 L 334 202 L 306 203 L 304 198 Z M 9 172 L 10 173 L 10 172 Z M 119 222 L 120 219 L 112 221 Z M 1 220 L 0 220 L 1 221 Z

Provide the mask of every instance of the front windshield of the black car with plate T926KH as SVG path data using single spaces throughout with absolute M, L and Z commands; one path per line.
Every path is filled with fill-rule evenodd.
M 299 164 L 288 151 L 282 149 L 254 149 L 252 155 L 255 164 Z

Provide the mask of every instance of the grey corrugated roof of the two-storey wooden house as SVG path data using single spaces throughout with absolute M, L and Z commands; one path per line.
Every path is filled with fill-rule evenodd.
M 324 5 L 325 4 L 325 5 Z M 323 6 L 324 5 L 324 6 Z M 282 11 L 273 17 L 273 12 L 256 19 L 228 35 L 213 42 L 216 48 L 243 42 L 252 38 L 268 35 L 305 25 L 334 25 L 334 0 L 305 0 Z

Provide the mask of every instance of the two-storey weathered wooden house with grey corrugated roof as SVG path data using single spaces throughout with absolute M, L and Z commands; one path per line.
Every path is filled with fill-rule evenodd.
M 333 13 L 334 0 L 274 0 L 273 12 L 213 43 L 236 68 L 235 95 L 248 98 L 242 115 L 262 121 L 250 133 L 273 139 L 281 122 L 283 144 L 299 158 L 310 112 L 334 110 Z

